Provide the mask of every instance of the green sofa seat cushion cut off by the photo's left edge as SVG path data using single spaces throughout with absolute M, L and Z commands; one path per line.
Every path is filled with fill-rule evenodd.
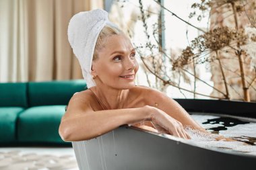
M 15 142 L 16 120 L 23 110 L 18 107 L 0 108 L 0 142 Z

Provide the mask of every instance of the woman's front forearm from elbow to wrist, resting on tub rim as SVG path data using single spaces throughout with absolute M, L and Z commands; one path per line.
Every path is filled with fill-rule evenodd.
M 109 132 L 123 124 L 147 120 L 147 107 L 120 110 L 102 110 L 80 114 L 61 121 L 59 134 L 65 141 L 88 140 Z

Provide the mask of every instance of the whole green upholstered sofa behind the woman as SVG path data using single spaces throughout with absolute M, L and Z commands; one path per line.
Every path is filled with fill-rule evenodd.
M 59 136 L 65 105 L 84 80 L 0 83 L 0 145 L 69 145 Z

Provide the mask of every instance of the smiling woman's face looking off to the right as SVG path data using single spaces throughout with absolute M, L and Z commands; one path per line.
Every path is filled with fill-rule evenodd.
M 133 87 L 138 69 L 135 49 L 123 35 L 107 37 L 104 47 L 98 51 L 98 59 L 92 62 L 92 75 L 96 76 L 96 84 L 117 89 Z

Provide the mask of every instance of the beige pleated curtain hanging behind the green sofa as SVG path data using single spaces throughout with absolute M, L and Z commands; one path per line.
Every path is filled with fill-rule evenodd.
M 0 82 L 82 79 L 67 40 L 69 19 L 102 0 L 1 0 Z

